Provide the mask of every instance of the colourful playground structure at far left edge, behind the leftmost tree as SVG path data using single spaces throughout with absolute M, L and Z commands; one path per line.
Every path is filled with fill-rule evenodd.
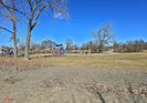
M 1 47 L 0 48 L 0 55 L 3 55 L 3 56 L 13 55 L 13 48 Z

